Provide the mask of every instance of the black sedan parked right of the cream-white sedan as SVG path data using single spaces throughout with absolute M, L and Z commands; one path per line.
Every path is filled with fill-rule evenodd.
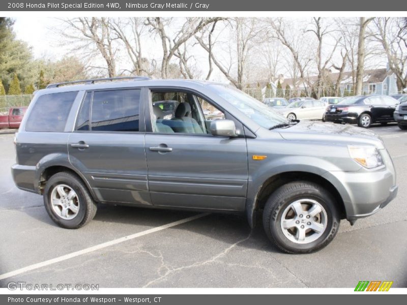
M 325 120 L 358 124 L 363 128 L 374 123 L 386 125 L 394 122 L 393 112 L 398 104 L 396 99 L 384 95 L 347 97 L 336 105 L 328 106 Z

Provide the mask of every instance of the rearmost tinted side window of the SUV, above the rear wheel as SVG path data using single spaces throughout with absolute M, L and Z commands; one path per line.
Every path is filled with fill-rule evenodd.
M 74 91 L 40 96 L 27 119 L 25 130 L 63 132 L 77 94 Z

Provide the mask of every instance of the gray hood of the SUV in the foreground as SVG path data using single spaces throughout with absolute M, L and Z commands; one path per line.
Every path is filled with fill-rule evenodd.
M 285 140 L 385 146 L 374 132 L 352 125 L 301 120 L 297 125 L 278 130 Z

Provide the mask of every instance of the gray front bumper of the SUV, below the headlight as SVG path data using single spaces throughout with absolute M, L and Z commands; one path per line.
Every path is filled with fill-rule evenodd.
M 375 214 L 392 201 L 398 191 L 396 173 L 387 150 L 380 150 L 385 166 L 356 172 L 330 171 L 325 178 L 338 190 L 346 219 L 356 220 Z

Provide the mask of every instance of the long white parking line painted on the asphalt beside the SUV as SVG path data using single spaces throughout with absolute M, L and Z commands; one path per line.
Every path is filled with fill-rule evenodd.
M 134 238 L 137 238 L 137 237 L 140 237 L 140 236 L 144 236 L 144 235 L 155 233 L 155 232 L 158 232 L 158 231 L 161 231 L 161 230 L 164 230 L 164 229 L 175 227 L 175 226 L 178 226 L 178 225 L 181 225 L 181 224 L 185 224 L 187 222 L 196 220 L 198 218 L 201 218 L 201 217 L 204 217 L 204 216 L 207 216 L 207 215 L 209 215 L 209 213 L 198 214 L 198 215 L 195 215 L 195 216 L 192 216 L 192 217 L 184 218 L 184 219 L 181 219 L 181 220 L 178 220 L 178 221 L 166 224 L 166 225 L 162 225 L 162 226 L 159 226 L 159 227 L 156 227 L 156 228 L 152 228 L 152 229 L 149 229 L 149 230 L 146 230 L 146 231 L 142 231 L 142 232 L 127 235 L 127 236 L 124 236 L 124 237 L 121 237 L 121 238 L 106 241 L 106 242 L 100 243 L 99 245 L 96 245 L 96 246 L 93 246 L 93 247 L 90 247 L 90 248 L 86 248 L 86 249 L 82 249 L 82 250 L 79 250 L 79 251 L 76 251 L 76 252 L 72 252 L 70 254 L 66 254 L 66 255 L 63 255 L 63 256 L 60 256 L 60 257 L 49 259 L 49 260 L 46 260 L 46 261 L 43 261 L 43 262 L 40 262 L 40 263 L 37 263 L 37 264 L 33 264 L 33 265 L 30 265 L 30 266 L 26 266 L 26 267 L 23 267 L 23 268 L 14 270 L 14 271 L 3 273 L 2 275 L 0 275 L 0 280 L 16 276 L 16 275 L 19 275 L 19 274 L 27 272 L 27 271 L 31 271 L 31 270 L 34 270 L 34 269 L 45 267 L 45 266 L 48 266 L 48 265 L 51 265 L 51 264 L 54 264 L 54 263 L 57 263 L 57 262 L 61 262 L 61 261 L 64 261 L 64 260 L 79 256 L 79 255 L 83 255 L 83 254 L 90 253 L 90 252 L 93 252 L 93 251 L 96 251 L 96 250 L 100 250 L 100 249 L 103 249 L 103 248 L 106 248 L 106 247 L 117 245 L 118 243 L 121 243 L 121 242 L 124 242 L 124 241 L 127 241 L 127 240 L 131 240 L 131 239 L 134 239 Z

